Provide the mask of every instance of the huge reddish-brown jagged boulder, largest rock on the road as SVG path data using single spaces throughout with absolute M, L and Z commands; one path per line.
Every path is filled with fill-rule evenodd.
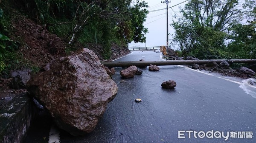
M 71 135 L 92 132 L 108 102 L 117 94 L 117 85 L 92 50 L 54 59 L 45 71 L 33 76 L 27 89 L 49 110 L 59 128 Z

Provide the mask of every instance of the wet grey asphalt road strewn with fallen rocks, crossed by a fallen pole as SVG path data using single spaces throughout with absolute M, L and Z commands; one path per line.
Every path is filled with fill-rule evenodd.
M 161 60 L 160 53 L 135 51 L 116 62 L 140 59 Z M 157 72 L 144 68 L 141 76 L 124 79 L 124 83 L 120 83 L 122 68 L 116 68 L 112 78 L 118 85 L 118 94 L 108 104 L 95 131 L 84 137 L 60 131 L 60 143 L 256 143 L 256 98 L 244 93 L 239 84 L 182 66 L 159 67 Z M 162 89 L 162 82 L 167 80 L 176 81 L 177 87 Z M 136 103 L 135 98 L 141 98 L 142 102 Z M 42 128 L 48 129 L 50 123 Z M 46 129 L 34 128 L 25 143 L 35 143 L 33 135 L 49 134 Z M 229 137 L 225 141 L 215 137 L 195 138 L 194 134 L 189 138 L 185 133 L 186 138 L 178 138 L 179 130 L 213 130 L 225 135 L 231 131 L 250 131 L 254 137 Z

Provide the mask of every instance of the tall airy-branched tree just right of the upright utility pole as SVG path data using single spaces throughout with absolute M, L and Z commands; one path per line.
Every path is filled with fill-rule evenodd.
M 238 4 L 238 0 L 189 1 L 181 10 L 182 17 L 172 24 L 175 29 L 172 42 L 179 45 L 184 56 L 187 53 L 210 59 L 221 56 L 227 28 L 240 18 Z

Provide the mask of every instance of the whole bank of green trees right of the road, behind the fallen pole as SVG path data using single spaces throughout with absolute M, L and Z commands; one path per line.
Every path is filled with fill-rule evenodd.
M 199 59 L 256 58 L 256 0 L 190 0 L 175 13 L 173 45 Z M 251 68 L 251 67 L 250 67 Z M 256 66 L 253 67 L 256 70 Z

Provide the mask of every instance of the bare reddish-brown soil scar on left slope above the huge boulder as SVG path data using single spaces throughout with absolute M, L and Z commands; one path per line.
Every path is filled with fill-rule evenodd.
M 21 15 L 12 20 L 12 25 L 13 39 L 22 41 L 19 50 L 32 65 L 41 67 L 56 56 L 65 56 L 64 42 L 43 26 Z

